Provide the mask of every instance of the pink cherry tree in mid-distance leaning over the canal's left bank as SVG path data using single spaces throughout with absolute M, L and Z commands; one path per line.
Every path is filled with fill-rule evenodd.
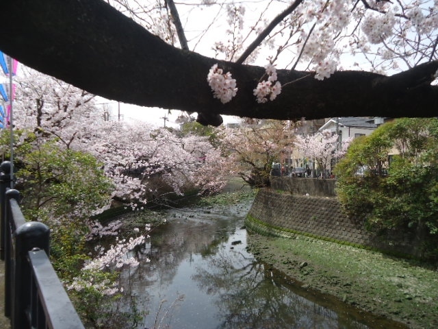
M 220 151 L 203 136 L 179 137 L 147 124 L 109 122 L 91 148 L 116 183 L 114 197 L 145 204 L 165 193 L 220 191 L 229 173 Z M 139 204 L 132 204 L 134 207 Z

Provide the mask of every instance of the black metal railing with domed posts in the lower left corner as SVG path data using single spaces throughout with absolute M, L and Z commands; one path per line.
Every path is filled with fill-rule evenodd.
M 26 221 L 20 193 L 9 188 L 10 162 L 0 165 L 0 258 L 5 261 L 5 316 L 12 329 L 83 329 L 49 260 L 50 230 Z

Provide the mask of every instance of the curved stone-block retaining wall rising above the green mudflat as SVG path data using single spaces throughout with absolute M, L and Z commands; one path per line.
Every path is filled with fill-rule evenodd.
M 365 230 L 363 220 L 348 217 L 335 197 L 294 195 L 261 188 L 246 218 L 246 227 L 261 234 L 305 234 L 400 256 L 421 256 L 414 234 L 398 231 L 372 234 Z

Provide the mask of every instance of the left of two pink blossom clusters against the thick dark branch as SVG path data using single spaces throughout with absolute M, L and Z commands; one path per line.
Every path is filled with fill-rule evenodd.
M 211 66 L 207 82 L 213 90 L 214 98 L 218 98 L 222 103 L 228 103 L 237 93 L 235 79 L 231 77 L 231 73 L 223 73 L 218 64 Z

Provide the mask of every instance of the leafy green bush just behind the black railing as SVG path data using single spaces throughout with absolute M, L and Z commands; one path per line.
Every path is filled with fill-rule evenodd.
M 85 221 L 109 203 L 114 186 L 94 156 L 62 149 L 57 141 L 32 144 L 16 149 L 17 187 L 28 219 Z

